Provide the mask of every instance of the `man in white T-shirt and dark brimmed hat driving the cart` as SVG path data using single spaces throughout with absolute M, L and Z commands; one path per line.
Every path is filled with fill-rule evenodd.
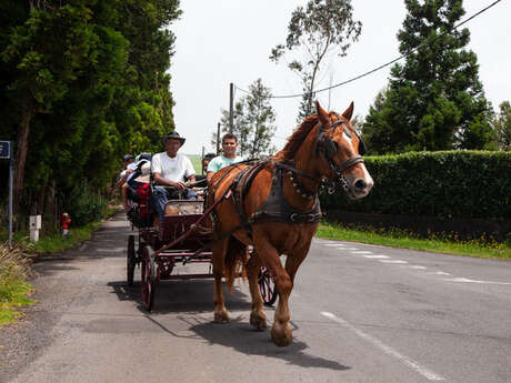
M 163 138 L 166 151 L 152 157 L 151 171 L 157 184 L 153 192 L 154 209 L 160 219 L 163 218 L 168 200 L 197 200 L 197 193 L 187 189 L 196 182 L 196 170 L 188 157 L 178 153 L 184 141 L 178 132 L 170 132 Z M 173 190 L 164 187 L 172 187 Z

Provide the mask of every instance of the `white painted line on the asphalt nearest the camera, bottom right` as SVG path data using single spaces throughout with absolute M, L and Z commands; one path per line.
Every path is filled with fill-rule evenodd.
M 383 343 L 379 339 L 364 333 L 363 331 L 361 331 L 360 329 L 358 329 L 353 324 L 349 323 L 348 321 L 343 320 L 342 318 L 339 318 L 339 316 L 337 316 L 337 315 L 334 315 L 332 313 L 324 312 L 324 311 L 321 312 L 321 315 L 328 318 L 329 320 L 332 320 L 333 322 L 340 323 L 344 327 L 353 331 L 357 335 L 359 335 L 363 340 L 372 343 L 378 349 L 383 351 L 387 355 L 395 357 L 398 361 L 400 361 L 401 363 L 408 365 L 409 367 L 411 367 L 412 370 L 414 370 L 415 372 L 418 372 L 419 374 L 424 376 L 427 380 L 429 380 L 429 381 L 444 381 L 445 380 L 444 377 L 438 375 L 437 373 L 432 372 L 431 370 L 428 370 L 427 367 L 420 365 L 418 362 L 415 362 L 411 357 L 408 357 L 408 356 L 401 354 L 399 351 L 392 349 L 390 345 L 387 345 L 385 343 Z

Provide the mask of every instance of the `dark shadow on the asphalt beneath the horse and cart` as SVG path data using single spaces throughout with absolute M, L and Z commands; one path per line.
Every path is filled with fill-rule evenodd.
M 110 282 L 109 286 L 119 300 L 132 300 L 146 314 L 148 320 L 159 326 L 166 333 L 177 337 L 203 339 L 210 344 L 220 344 L 232 347 L 247 355 L 262 355 L 285 360 L 289 364 L 303 367 L 322 367 L 335 371 L 350 370 L 337 361 L 319 357 L 305 353 L 307 343 L 295 340 L 288 347 L 275 346 L 270 339 L 269 331 L 255 331 L 249 324 L 250 298 L 238 289 L 232 293 L 224 289 L 224 296 L 231 322 L 219 324 L 204 318 L 204 313 L 213 312 L 213 283 L 211 280 L 191 281 L 163 281 L 158 286 L 156 304 L 151 313 L 142 306 L 142 293 L 140 282 L 128 286 L 126 282 Z M 240 313 L 241 311 L 241 313 Z M 268 312 L 270 311 L 270 312 Z M 189 325 L 189 331 L 194 335 L 180 335 L 168 329 L 163 315 L 178 313 L 178 320 Z M 190 316 L 191 315 L 191 316 Z M 272 319 L 273 310 L 267 309 L 268 319 Z M 269 326 L 271 323 L 269 321 Z

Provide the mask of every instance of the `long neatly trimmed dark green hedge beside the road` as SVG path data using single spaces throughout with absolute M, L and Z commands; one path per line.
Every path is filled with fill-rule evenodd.
M 369 195 L 322 192 L 323 210 L 511 220 L 511 152 L 409 152 L 368 157 L 365 165 L 374 180 Z

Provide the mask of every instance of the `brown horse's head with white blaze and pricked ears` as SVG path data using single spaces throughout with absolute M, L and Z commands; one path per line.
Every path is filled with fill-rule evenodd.
M 340 181 L 350 199 L 365 196 L 373 185 L 363 163 L 364 144 L 351 125 L 353 102 L 339 115 L 327 113 L 315 102 L 319 119 L 317 151 L 319 172 L 330 181 Z

